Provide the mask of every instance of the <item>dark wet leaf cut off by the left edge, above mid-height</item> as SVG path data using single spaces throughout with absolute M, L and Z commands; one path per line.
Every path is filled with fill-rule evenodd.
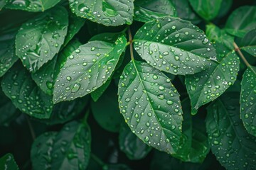
M 0 35 L 0 77 L 18 60 L 18 57 L 15 55 L 16 33 L 17 29 L 14 28 Z

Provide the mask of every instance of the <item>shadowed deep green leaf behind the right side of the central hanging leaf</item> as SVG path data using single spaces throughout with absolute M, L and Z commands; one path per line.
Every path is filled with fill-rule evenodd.
M 188 99 L 181 102 L 183 108 L 183 123 L 181 144 L 174 157 L 183 162 L 202 163 L 210 152 L 206 125 L 201 118 L 192 118 Z

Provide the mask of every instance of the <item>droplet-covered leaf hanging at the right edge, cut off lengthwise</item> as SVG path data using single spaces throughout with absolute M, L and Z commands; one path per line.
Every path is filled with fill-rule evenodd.
M 256 136 L 256 67 L 248 67 L 242 76 L 240 117 L 247 132 Z

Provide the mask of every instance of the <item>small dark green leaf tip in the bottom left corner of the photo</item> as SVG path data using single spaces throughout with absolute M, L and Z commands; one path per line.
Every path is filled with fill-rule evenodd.
M 12 154 L 6 154 L 4 157 L 0 158 L 0 169 L 18 170 L 18 165 L 16 164 Z

